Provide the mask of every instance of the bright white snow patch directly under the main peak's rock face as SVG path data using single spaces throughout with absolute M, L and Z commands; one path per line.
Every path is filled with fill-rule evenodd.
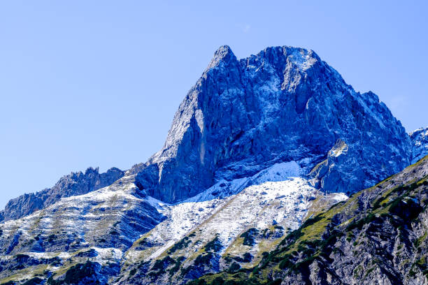
M 166 204 L 149 197 L 167 219 L 155 226 L 145 237 L 159 245 L 145 260 L 155 259 L 178 240 L 195 233 L 201 243 L 189 252 L 199 250 L 217 236 L 223 251 L 243 231 L 255 227 L 269 228 L 280 224 L 296 229 L 301 225 L 311 201 L 319 191 L 308 184 L 304 171 L 296 161 L 276 163 L 252 177 L 221 180 L 197 196 L 180 203 Z M 334 199 L 347 198 L 335 193 Z M 220 252 L 221 253 L 221 252 Z M 133 250 L 127 258 L 138 256 Z

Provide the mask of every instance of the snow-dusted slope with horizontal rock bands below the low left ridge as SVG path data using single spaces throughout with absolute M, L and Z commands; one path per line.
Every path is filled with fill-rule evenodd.
M 102 275 L 116 275 L 123 252 L 164 219 L 141 196 L 134 176 L 0 224 L 0 280 L 62 275 L 88 258 Z

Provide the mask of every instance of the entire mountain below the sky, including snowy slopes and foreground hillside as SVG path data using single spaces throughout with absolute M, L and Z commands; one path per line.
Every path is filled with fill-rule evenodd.
M 224 45 L 147 162 L 10 200 L 0 284 L 428 284 L 427 154 L 312 50 Z

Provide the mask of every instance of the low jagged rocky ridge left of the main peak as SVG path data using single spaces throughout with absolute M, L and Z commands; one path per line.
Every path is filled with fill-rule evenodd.
M 124 175 L 118 168 L 99 173 L 98 168 L 87 168 L 85 173 L 71 173 L 62 177 L 54 187 L 36 193 L 29 193 L 10 200 L 0 214 L 0 221 L 19 219 L 37 210 L 54 204 L 61 198 L 82 195 L 101 189 Z

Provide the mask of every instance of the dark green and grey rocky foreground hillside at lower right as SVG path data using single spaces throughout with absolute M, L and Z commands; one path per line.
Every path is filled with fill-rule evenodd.
M 428 284 L 428 156 L 313 213 L 250 269 L 189 284 Z

